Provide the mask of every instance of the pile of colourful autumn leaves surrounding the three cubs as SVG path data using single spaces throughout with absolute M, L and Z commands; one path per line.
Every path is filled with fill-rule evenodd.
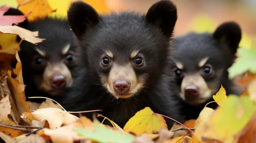
M 100 123 L 97 117 L 104 117 L 101 114 L 94 115 L 93 121 L 74 116 L 49 99 L 41 104 L 26 102 L 18 55 L 22 41 L 16 38 L 34 44 L 44 39 L 16 25 L 26 17 L 33 21 L 55 10 L 47 0 L 17 3 L 25 15 L 4 15 L 10 7 L 0 7 L 0 142 L 256 142 L 256 47 L 240 47 L 238 59 L 228 69 L 230 79 L 245 74 L 239 79 L 246 87 L 241 96 L 227 96 L 221 86 L 213 96 L 220 106 L 215 110 L 206 106 L 196 120 L 175 123 L 168 131 L 163 116 L 146 107 L 122 129 L 108 117 L 106 122 L 112 126 Z

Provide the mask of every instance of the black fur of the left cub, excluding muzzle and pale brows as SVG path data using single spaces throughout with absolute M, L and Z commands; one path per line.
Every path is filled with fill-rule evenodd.
M 21 57 L 23 65 L 23 77 L 24 84 L 26 85 L 25 93 L 27 97 L 51 97 L 49 93 L 44 92 L 44 90 L 38 89 L 38 84 L 42 82 L 43 70 L 36 70 L 32 67 L 33 57 L 38 55 L 35 47 L 45 51 L 47 54 L 47 62 L 59 63 L 65 59 L 62 55 L 63 47 L 71 43 L 69 53 L 73 52 L 74 61 L 72 64 L 67 64 L 69 70 L 71 71 L 72 77 L 75 79 L 78 76 L 78 59 L 75 58 L 76 54 L 76 43 L 73 38 L 72 31 L 69 28 L 67 19 L 57 19 L 57 18 L 44 18 L 37 19 L 36 21 L 30 22 L 24 27 L 30 31 L 38 31 L 40 38 L 45 38 L 41 43 L 37 45 L 32 44 L 27 41 L 21 43 L 21 52 L 19 55 Z M 43 100 L 31 100 L 36 102 L 42 102 Z

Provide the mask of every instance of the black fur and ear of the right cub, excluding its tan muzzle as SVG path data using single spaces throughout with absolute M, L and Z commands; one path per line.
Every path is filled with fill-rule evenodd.
M 193 74 L 202 70 L 198 66 L 199 62 L 205 57 L 210 57 L 206 64 L 212 65 L 214 76 L 204 78 L 207 86 L 217 92 L 222 84 L 226 89 L 227 95 L 239 95 L 241 90 L 235 88 L 233 81 L 228 79 L 227 69 L 235 59 L 235 52 L 238 49 L 240 40 L 241 29 L 235 22 L 223 23 L 213 34 L 189 33 L 176 37 L 174 38 L 178 54 L 176 60 L 183 64 L 184 69 L 182 69 L 182 72 Z M 177 77 L 177 80 L 181 86 L 183 76 Z M 209 98 L 207 102 L 196 106 L 182 102 L 181 104 L 185 105 L 183 112 L 187 115 L 186 120 L 196 119 L 204 106 L 210 101 L 213 101 L 213 99 Z M 216 108 L 217 104 L 211 103 L 207 107 Z

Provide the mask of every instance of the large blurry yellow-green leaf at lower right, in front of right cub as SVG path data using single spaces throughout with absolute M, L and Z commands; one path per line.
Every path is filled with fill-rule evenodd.
M 249 97 L 228 96 L 223 106 L 218 107 L 204 128 L 203 137 L 233 142 L 256 111 Z

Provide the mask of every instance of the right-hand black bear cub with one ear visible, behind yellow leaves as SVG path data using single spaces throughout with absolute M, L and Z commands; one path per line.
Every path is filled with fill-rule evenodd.
M 221 84 L 227 94 L 239 94 L 227 69 L 235 59 L 241 40 L 241 29 L 235 22 L 225 22 L 214 33 L 189 33 L 176 37 L 176 79 L 180 97 L 187 103 L 187 120 L 197 118 L 206 103 L 219 91 Z M 210 104 L 213 108 L 217 104 Z

